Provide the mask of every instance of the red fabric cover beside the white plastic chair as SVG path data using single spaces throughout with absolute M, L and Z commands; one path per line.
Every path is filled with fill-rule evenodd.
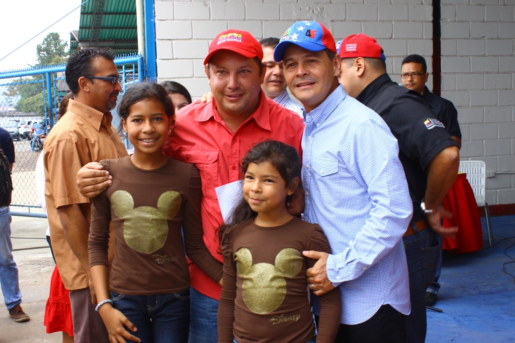
M 442 202 L 453 213 L 453 218 L 444 219 L 443 226 L 458 226 L 455 239 L 442 240 L 442 248 L 452 252 L 471 252 L 483 248 L 483 230 L 474 192 L 466 173 L 459 173 L 451 190 Z

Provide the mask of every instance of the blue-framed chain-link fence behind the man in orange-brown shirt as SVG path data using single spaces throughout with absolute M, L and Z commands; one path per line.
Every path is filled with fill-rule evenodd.
M 115 64 L 122 76 L 122 93 L 131 84 L 142 82 L 143 58 L 139 55 L 117 57 Z M 12 169 L 11 207 L 18 207 L 31 215 L 39 208 L 36 193 L 36 162 L 42 151 L 31 152 L 32 125 L 41 123 L 45 132 L 52 130 L 61 98 L 68 92 L 64 80 L 64 65 L 0 71 L 0 127 L 11 134 L 16 161 Z M 117 110 L 113 111 L 113 125 L 119 124 Z M 128 143 L 126 143 L 127 145 Z M 63 166 L 64 168 L 64 166 Z M 36 210 L 35 212 L 40 212 Z M 16 214 L 16 212 L 12 212 Z M 23 214 L 25 215 L 25 214 Z M 35 216 L 38 213 L 34 213 Z

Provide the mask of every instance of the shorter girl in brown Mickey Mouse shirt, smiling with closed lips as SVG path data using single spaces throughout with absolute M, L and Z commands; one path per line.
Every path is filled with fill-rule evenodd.
M 293 147 L 267 140 L 245 156 L 243 200 L 231 223 L 220 227 L 224 276 L 218 306 L 218 341 L 334 342 L 339 327 L 339 290 L 319 297 L 315 324 L 306 269 L 315 260 L 303 250 L 330 252 L 320 226 L 286 209 L 299 183 L 299 156 Z

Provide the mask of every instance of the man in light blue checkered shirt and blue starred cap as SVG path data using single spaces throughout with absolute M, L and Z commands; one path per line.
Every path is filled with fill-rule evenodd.
M 336 341 L 406 341 L 402 236 L 413 206 L 399 148 L 381 117 L 339 85 L 335 52 L 331 33 L 310 21 L 291 26 L 274 51 L 304 105 L 304 219 L 320 224 L 333 252 L 304 252 L 319 259 L 308 281 L 315 294 L 340 287 Z

